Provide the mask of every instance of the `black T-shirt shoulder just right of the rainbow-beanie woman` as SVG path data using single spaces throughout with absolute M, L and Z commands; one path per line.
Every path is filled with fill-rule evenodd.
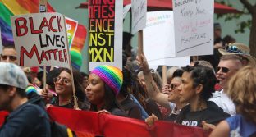
M 124 111 L 126 111 L 126 113 L 128 114 L 128 117 L 142 119 L 139 105 L 134 103 L 130 98 L 126 98 L 120 104 Z

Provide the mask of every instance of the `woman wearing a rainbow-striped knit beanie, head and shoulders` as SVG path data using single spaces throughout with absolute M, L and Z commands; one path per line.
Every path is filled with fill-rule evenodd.
M 91 103 L 90 111 L 110 113 L 116 116 L 127 116 L 117 102 L 121 90 L 123 75 L 115 66 L 97 66 L 89 74 L 89 85 L 85 94 Z

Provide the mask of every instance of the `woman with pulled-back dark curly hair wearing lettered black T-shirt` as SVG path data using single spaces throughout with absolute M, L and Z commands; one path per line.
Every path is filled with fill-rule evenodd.
M 181 109 L 176 117 L 176 123 L 185 126 L 202 126 L 201 122 L 206 121 L 217 125 L 230 116 L 215 103 L 208 101 L 217 82 L 212 69 L 205 66 L 187 66 L 181 81 L 180 102 L 189 105 Z

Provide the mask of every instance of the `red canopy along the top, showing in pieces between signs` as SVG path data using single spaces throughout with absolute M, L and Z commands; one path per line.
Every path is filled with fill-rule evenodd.
M 124 6 L 130 4 L 131 0 L 124 0 Z M 148 11 L 172 10 L 172 0 L 148 0 Z M 80 3 L 78 8 L 87 8 L 88 2 Z M 240 13 L 233 7 L 228 7 L 220 3 L 214 2 L 215 13 Z

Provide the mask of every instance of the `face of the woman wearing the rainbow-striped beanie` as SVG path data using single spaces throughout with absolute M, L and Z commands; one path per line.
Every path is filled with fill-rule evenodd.
M 90 103 L 94 105 L 102 105 L 104 103 L 104 82 L 98 77 L 98 75 L 89 75 L 89 85 L 85 89 L 85 94 Z

